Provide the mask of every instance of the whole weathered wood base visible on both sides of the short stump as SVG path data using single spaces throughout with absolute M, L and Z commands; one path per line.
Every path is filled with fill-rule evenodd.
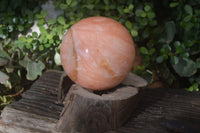
M 4 108 L 2 133 L 57 133 L 63 105 L 57 103 L 61 72 L 46 72 L 20 101 Z M 200 93 L 144 89 L 131 118 L 107 133 L 200 133 Z M 132 107 L 130 107 L 132 108 Z

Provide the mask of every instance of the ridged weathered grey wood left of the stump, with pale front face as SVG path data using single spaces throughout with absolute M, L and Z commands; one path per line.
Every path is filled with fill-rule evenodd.
M 55 133 L 63 105 L 57 94 L 61 72 L 44 73 L 22 99 L 5 107 L 1 113 L 0 132 L 3 133 Z

